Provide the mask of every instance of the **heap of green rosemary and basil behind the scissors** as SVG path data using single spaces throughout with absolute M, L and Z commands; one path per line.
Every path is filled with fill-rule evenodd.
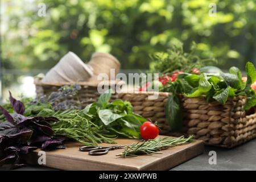
M 24 115 L 56 117 L 59 121 L 51 123 L 55 135 L 75 139 L 85 145 L 114 143 L 114 139 L 118 136 L 139 138 L 139 128 L 146 119 L 133 113 L 133 107 L 128 101 L 110 102 L 111 96 L 112 93 L 108 90 L 101 94 L 97 102 L 82 110 L 64 111 L 56 111 L 56 107 L 48 102 L 27 100 L 24 102 L 26 106 Z

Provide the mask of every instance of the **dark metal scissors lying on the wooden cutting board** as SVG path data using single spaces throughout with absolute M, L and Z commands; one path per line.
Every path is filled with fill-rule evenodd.
M 110 147 L 101 147 L 101 146 L 82 146 L 79 148 L 81 152 L 89 152 L 89 155 L 105 155 L 108 154 L 110 150 L 115 150 L 118 148 L 125 148 L 126 146 L 110 146 Z

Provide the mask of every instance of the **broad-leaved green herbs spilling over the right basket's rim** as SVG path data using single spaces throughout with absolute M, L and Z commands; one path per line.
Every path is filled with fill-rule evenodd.
M 201 73 L 194 75 L 184 73 L 178 76 L 174 82 L 168 82 L 164 92 L 172 92 L 166 104 L 166 117 L 173 130 L 180 130 L 182 113 L 180 95 L 185 97 L 205 97 L 206 102 L 216 100 L 225 104 L 229 97 L 246 96 L 245 110 L 256 105 L 256 94 L 251 89 L 251 84 L 256 80 L 256 70 L 252 63 L 246 64 L 247 81 L 242 81 L 240 69 L 232 67 L 229 73 Z

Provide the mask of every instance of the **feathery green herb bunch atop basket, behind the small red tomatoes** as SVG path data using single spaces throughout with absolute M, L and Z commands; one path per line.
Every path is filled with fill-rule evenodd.
M 216 59 L 213 57 L 202 59 L 196 47 L 196 43 L 193 42 L 191 52 L 187 53 L 184 52 L 182 43 L 176 43 L 171 44 L 171 48 L 167 52 L 154 53 L 151 56 L 155 61 L 154 71 L 166 74 L 183 70 L 184 72 L 191 73 L 192 68 L 199 69 L 209 62 L 216 63 Z

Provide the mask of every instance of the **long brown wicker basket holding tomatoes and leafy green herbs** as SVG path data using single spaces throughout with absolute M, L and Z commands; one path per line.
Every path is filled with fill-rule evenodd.
M 135 113 L 158 121 L 160 134 L 195 135 L 205 144 L 232 148 L 247 140 L 256 138 L 256 113 L 246 115 L 243 110 L 246 97 L 229 98 L 225 105 L 217 101 L 208 104 L 204 97 L 181 97 L 183 105 L 184 127 L 182 133 L 171 132 L 166 122 L 164 107 L 170 93 L 159 92 L 157 100 L 148 100 L 152 93 L 121 94 L 119 98 L 130 101 Z

